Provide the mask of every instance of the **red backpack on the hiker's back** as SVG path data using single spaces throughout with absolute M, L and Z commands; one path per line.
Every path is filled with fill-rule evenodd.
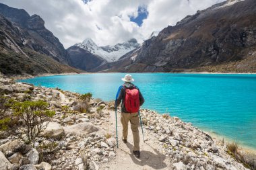
M 139 111 L 139 90 L 125 89 L 125 109 L 129 113 L 135 113 Z

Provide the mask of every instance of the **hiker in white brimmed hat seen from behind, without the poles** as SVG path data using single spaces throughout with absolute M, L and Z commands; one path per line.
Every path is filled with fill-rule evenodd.
M 116 107 L 121 103 L 121 123 L 123 125 L 122 140 L 127 143 L 128 122 L 131 122 L 133 132 L 133 154 L 140 157 L 139 152 L 139 106 L 144 103 L 144 98 L 139 89 L 131 83 L 134 79 L 127 74 L 122 78 L 125 83 L 117 94 Z

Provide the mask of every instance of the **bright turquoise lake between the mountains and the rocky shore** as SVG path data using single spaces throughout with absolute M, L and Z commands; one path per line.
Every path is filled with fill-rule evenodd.
M 35 77 L 22 82 L 115 99 L 125 73 Z M 194 126 L 256 148 L 256 75 L 133 73 L 142 108 L 178 116 Z

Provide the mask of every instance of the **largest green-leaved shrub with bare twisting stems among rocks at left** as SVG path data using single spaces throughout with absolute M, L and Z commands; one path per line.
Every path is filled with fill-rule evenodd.
M 48 110 L 48 106 L 42 100 L 15 102 L 11 119 L 18 120 L 19 124 L 9 127 L 10 132 L 28 143 L 34 141 L 48 125 L 44 122 L 51 121 L 55 115 L 55 111 Z

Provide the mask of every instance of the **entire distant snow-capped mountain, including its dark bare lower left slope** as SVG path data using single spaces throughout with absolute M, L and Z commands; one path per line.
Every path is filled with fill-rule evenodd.
M 73 62 L 72 67 L 93 71 L 100 65 L 118 60 L 139 46 L 134 38 L 115 46 L 98 46 L 91 38 L 86 38 L 82 43 L 67 48 L 67 52 L 69 52 L 71 62 Z

